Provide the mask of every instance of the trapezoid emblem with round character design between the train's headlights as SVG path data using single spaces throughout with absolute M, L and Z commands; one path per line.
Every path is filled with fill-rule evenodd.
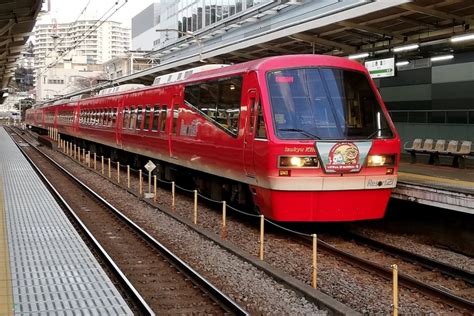
M 372 142 L 316 142 L 327 173 L 359 172 Z

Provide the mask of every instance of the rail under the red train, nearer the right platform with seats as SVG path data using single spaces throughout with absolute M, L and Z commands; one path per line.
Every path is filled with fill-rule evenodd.
M 474 273 L 460 269 L 458 267 L 449 265 L 447 263 L 431 259 L 426 256 L 422 256 L 404 249 L 394 247 L 392 245 L 387 245 L 377 240 L 373 240 L 355 233 L 344 233 L 344 238 L 349 238 L 354 240 L 356 243 L 364 244 L 374 250 L 382 250 L 384 253 L 398 257 L 404 261 L 411 263 L 418 263 L 422 267 L 427 269 L 436 270 L 442 274 L 451 276 L 465 281 L 471 285 L 474 285 Z

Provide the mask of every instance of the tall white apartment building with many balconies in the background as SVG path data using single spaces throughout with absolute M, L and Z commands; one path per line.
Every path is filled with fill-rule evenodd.
M 119 22 L 96 20 L 73 23 L 37 24 L 35 27 L 36 67 L 64 54 L 65 58 L 83 56 L 88 64 L 102 64 L 130 50 L 130 29 Z

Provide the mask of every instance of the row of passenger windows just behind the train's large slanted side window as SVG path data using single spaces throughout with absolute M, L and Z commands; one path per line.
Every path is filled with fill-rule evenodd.
M 166 127 L 166 105 L 127 106 L 123 110 L 122 129 L 151 130 L 164 132 Z M 143 126 L 142 126 L 142 121 Z

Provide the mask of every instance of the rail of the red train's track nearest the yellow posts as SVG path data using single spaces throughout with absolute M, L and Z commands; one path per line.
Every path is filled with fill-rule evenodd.
M 301 236 L 300 238 L 302 238 L 306 243 L 312 243 L 311 238 L 304 236 Z M 358 257 L 349 252 L 338 249 L 323 240 L 318 239 L 318 249 L 321 249 L 333 256 L 340 257 L 344 262 L 358 266 L 359 268 L 365 271 L 375 272 L 387 280 L 392 279 L 393 271 L 389 267 L 382 266 L 370 260 Z M 443 289 L 426 284 L 400 271 L 398 272 L 398 282 L 406 288 L 416 289 L 430 297 L 440 299 L 450 306 L 464 309 L 470 312 L 474 310 L 474 302 L 449 293 L 448 291 L 445 291 Z

